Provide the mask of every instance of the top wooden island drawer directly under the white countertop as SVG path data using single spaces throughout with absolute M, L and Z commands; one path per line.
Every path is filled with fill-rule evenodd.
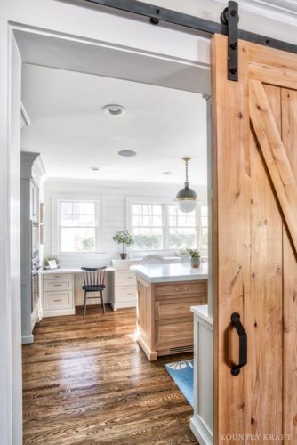
M 166 295 L 206 295 L 207 282 L 197 281 L 196 283 L 165 283 L 154 286 L 154 294 L 156 299 Z

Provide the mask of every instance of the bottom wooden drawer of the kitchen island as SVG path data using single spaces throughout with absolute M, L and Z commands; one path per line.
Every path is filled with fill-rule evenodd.
M 193 316 L 156 321 L 156 349 L 193 344 Z

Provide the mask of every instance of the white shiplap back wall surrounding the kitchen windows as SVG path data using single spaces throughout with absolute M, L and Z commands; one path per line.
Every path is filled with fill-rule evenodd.
M 206 150 L 206 148 L 205 148 Z M 182 184 L 167 185 L 146 182 L 100 182 L 73 179 L 48 179 L 44 184 L 44 204 L 46 242 L 44 255 L 56 254 L 54 248 L 54 230 L 56 223 L 56 198 L 93 198 L 101 201 L 101 230 L 99 233 L 100 254 L 76 254 L 60 256 L 60 265 L 64 267 L 92 266 L 108 264 L 111 258 L 117 258 L 121 248 L 112 237 L 116 231 L 126 229 L 126 198 L 164 198 L 173 201 Z M 206 186 L 194 186 L 199 197 L 199 204 L 207 206 Z M 135 255 L 135 254 L 133 254 Z

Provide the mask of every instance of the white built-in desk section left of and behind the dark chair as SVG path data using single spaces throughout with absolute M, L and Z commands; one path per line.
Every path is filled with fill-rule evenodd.
M 107 289 L 113 291 L 113 267 L 107 267 Z M 110 272 L 110 273 L 109 273 Z M 83 305 L 83 271 L 81 268 L 46 269 L 41 275 L 41 302 L 43 317 L 72 315 L 76 313 L 75 306 Z M 111 282 L 111 286 L 108 285 Z M 107 292 L 104 298 L 109 303 Z M 100 297 L 92 300 L 93 304 L 100 303 Z M 91 304 L 92 304 L 91 303 Z

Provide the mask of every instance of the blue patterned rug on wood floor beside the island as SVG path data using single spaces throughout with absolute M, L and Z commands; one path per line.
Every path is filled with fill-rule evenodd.
M 194 360 L 175 361 L 165 365 L 168 374 L 181 392 L 194 407 Z

